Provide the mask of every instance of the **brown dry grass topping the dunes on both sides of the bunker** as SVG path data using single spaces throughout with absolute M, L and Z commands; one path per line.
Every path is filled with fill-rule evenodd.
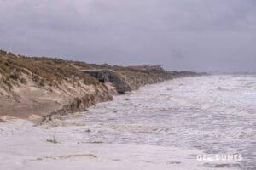
M 134 87 L 159 82 L 160 78 L 170 78 L 170 74 L 163 70 L 143 71 L 117 65 L 96 65 L 56 58 L 26 57 L 0 50 L 0 75 L 2 75 L 0 87 L 2 84 L 4 88 L 9 88 L 9 90 L 14 86 L 26 84 L 27 77 L 39 87 L 46 85 L 58 87 L 63 82 L 74 84 L 79 80 L 82 80 L 81 82 L 86 85 L 98 85 L 100 83 L 79 69 L 112 69 L 116 75 L 125 78 Z M 76 85 L 74 84 L 74 86 Z

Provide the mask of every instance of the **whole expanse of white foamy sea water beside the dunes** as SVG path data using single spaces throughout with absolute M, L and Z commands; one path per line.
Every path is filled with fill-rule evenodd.
M 0 123 L 0 169 L 255 169 L 255 82 L 180 78 L 42 127 Z M 198 154 L 243 161 L 196 161 Z

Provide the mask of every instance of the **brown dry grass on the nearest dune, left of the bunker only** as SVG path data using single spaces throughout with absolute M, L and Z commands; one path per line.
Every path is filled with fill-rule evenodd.
M 19 84 L 26 84 L 27 75 L 38 84 L 44 87 L 61 85 L 62 82 L 77 82 L 83 79 L 87 85 L 96 85 L 98 82 L 89 75 L 84 75 L 79 71 L 79 67 L 92 68 L 92 66 L 63 59 L 52 59 L 46 57 L 26 57 L 0 51 L 0 83 L 11 89 Z

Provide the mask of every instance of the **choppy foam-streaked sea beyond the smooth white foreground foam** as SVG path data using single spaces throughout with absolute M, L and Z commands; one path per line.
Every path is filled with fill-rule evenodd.
M 140 88 L 91 107 L 82 121 L 95 133 L 84 141 L 241 153 L 239 166 L 255 169 L 255 83 L 253 76 L 211 76 Z

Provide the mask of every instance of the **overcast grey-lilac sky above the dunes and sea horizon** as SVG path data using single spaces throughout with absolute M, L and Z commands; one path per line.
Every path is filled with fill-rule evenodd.
M 255 0 L 0 0 L 0 48 L 110 65 L 256 71 Z

